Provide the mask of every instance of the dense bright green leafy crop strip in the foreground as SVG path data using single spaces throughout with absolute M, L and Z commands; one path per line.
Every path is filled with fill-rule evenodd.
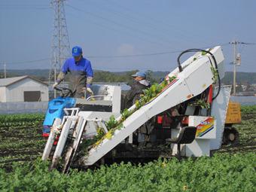
M 47 163 L 0 169 L 1 191 L 256 191 L 256 154 L 215 154 L 145 165 L 114 163 L 96 170 L 48 171 Z

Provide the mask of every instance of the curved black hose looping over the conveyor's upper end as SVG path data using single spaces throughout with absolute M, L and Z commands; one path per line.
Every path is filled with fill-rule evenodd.
M 178 56 L 178 59 L 177 59 L 179 72 L 182 72 L 182 71 L 183 71 L 183 69 L 182 69 L 182 67 L 181 67 L 181 62 L 180 62 L 181 56 L 182 56 L 184 53 L 191 53 L 191 52 L 198 52 L 198 51 L 202 51 L 202 52 L 209 53 L 209 54 L 212 56 L 212 59 L 213 59 L 214 62 L 215 62 L 215 69 L 216 69 L 216 71 L 218 72 L 218 65 L 217 65 L 217 61 L 216 61 L 216 59 L 215 59 L 215 56 L 214 56 L 209 50 L 203 50 L 203 49 L 188 49 L 188 50 L 184 50 L 183 52 L 181 52 L 181 53 L 179 54 L 179 56 Z M 210 59 L 210 62 L 211 62 L 211 59 Z M 212 64 L 212 62 L 211 62 L 211 64 Z M 221 91 L 221 78 L 220 78 L 220 75 L 219 75 L 219 73 L 218 73 L 218 92 L 217 92 L 217 94 L 216 94 L 214 97 L 212 97 L 212 100 L 216 99 L 216 97 L 218 96 L 218 94 L 220 93 L 220 91 Z

